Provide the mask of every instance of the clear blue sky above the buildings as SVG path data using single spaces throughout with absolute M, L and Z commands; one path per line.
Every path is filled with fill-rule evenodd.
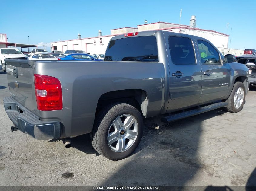
M 36 3 L 38 2 L 38 3 Z M 196 15 L 197 27 L 231 36 L 231 48 L 256 49 L 256 1 L 2 1 L 0 33 L 8 42 L 50 43 L 109 35 L 111 29 L 137 27 L 163 21 L 189 25 Z M 227 23 L 229 28 L 227 30 Z M 230 39 L 230 37 L 229 37 Z M 229 46 L 229 45 L 228 45 Z

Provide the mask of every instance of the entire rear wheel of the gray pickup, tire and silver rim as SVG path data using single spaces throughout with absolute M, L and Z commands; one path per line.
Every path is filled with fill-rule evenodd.
M 142 134 L 141 113 L 129 104 L 115 103 L 97 115 L 91 142 L 99 154 L 115 161 L 128 157 L 139 145 Z

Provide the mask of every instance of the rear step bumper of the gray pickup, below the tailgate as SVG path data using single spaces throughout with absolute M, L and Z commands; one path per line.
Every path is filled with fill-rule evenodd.
M 38 116 L 22 107 L 12 97 L 4 97 L 7 115 L 18 130 L 35 139 L 54 139 L 61 136 L 61 123 L 58 121 L 41 121 Z

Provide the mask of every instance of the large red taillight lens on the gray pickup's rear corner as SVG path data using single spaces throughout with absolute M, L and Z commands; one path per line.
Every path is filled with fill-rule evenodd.
M 61 83 L 57 78 L 34 74 L 37 109 L 41 111 L 62 110 Z

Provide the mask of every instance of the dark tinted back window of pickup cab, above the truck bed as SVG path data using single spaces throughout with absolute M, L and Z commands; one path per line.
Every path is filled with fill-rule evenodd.
M 104 60 L 158 62 L 156 37 L 142 36 L 111 40 Z

